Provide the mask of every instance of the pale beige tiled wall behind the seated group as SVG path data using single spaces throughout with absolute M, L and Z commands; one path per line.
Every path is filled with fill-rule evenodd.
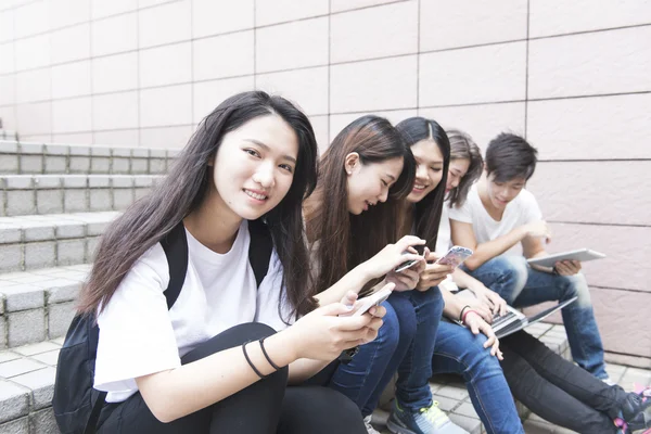
M 556 233 L 588 246 L 612 354 L 651 357 L 651 2 L 0 0 L 0 116 L 27 140 L 178 148 L 220 100 L 297 101 L 326 146 L 367 112 L 540 150 Z M 637 326 L 636 326 L 637 324 Z

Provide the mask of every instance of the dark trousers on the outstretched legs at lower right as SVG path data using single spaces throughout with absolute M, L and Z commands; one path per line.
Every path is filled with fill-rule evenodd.
M 578 433 L 617 431 L 613 419 L 627 396 L 622 387 L 609 386 L 526 332 L 503 337 L 500 348 L 513 396 L 534 413 Z

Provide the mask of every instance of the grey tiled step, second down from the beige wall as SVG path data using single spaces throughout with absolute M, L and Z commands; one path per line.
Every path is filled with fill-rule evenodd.
M 162 175 L 2 175 L 0 216 L 124 210 Z

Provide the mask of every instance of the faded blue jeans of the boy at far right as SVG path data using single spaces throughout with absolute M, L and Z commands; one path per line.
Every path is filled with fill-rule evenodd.
M 470 275 L 501 295 L 511 306 L 527 307 L 542 302 L 577 296 L 562 309 L 572 358 L 598 379 L 608 376 L 603 344 L 597 328 L 588 283 L 583 273 L 557 276 L 531 268 L 522 256 L 498 256 Z

